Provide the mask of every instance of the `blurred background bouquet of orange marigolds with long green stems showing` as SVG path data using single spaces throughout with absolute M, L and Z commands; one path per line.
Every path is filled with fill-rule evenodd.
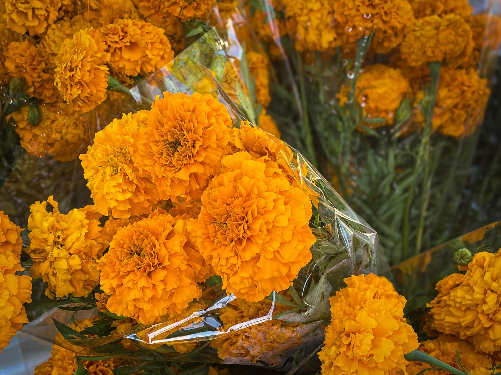
M 273 60 L 268 112 L 283 139 L 331 176 L 390 262 L 460 234 L 498 1 L 259 0 L 245 10 Z

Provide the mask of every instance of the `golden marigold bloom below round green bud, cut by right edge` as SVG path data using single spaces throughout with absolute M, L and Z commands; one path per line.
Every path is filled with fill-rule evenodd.
M 501 251 L 476 253 L 466 273 L 453 273 L 436 284 L 438 295 L 428 304 L 433 328 L 454 334 L 488 354 L 501 350 L 499 284 Z

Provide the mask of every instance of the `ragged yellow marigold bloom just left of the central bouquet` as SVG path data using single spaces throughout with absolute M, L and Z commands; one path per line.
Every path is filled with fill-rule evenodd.
M 47 211 L 47 203 L 53 206 L 52 212 Z M 89 295 L 99 282 L 97 258 L 107 246 L 99 220 L 94 218 L 100 215 L 90 206 L 61 213 L 52 195 L 32 204 L 30 211 L 26 248 L 33 261 L 30 273 L 47 282 L 49 298 Z

